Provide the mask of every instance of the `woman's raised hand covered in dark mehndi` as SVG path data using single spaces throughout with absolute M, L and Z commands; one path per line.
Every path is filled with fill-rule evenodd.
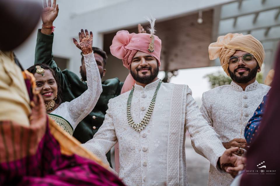
M 89 35 L 87 29 L 85 29 L 85 32 L 81 29 L 81 32 L 79 32 L 80 42 L 77 42 L 77 40 L 73 38 L 74 44 L 83 52 L 84 55 L 92 53 L 92 37 L 92 32 L 90 32 Z

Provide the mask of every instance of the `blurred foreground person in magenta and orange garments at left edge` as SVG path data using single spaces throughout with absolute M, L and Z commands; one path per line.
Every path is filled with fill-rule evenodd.
M 0 0 L 0 10 L 11 28 L 0 30 L 0 185 L 123 185 L 47 117 L 33 74 L 12 52 L 37 25 L 41 5 Z

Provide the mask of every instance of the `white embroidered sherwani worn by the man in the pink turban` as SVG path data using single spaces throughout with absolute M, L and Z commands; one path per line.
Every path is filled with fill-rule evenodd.
M 131 114 L 144 117 L 159 79 L 143 88 L 135 84 Z M 187 85 L 162 83 L 147 127 L 136 132 L 127 122 L 129 92 L 110 99 L 105 120 L 83 146 L 106 162 L 105 154 L 119 142 L 119 177 L 128 185 L 188 185 L 185 132 L 216 167 L 225 148 L 199 112 Z

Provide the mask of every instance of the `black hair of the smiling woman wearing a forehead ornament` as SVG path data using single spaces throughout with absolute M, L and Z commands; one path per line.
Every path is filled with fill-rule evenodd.
M 58 78 L 55 75 L 55 72 L 53 71 L 52 68 L 50 68 L 49 65 L 46 65 L 46 64 L 43 64 L 43 63 L 37 64 L 37 65 L 41 66 L 45 70 L 50 70 L 50 72 L 52 73 L 53 77 L 55 78 L 55 82 L 57 84 L 57 98 L 55 100 L 55 103 L 60 105 L 62 103 L 62 90 L 61 90 L 61 87 L 60 87 L 60 82 L 58 81 Z M 29 67 L 27 69 L 27 71 L 29 71 L 30 73 L 32 73 L 34 75 L 36 73 L 36 66 L 37 65 L 33 65 L 33 66 Z

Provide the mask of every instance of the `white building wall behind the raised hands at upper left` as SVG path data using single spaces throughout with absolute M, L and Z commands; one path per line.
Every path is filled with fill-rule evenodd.
M 54 22 L 56 28 L 53 53 L 58 57 L 69 58 L 69 69 L 79 74 L 81 56 L 72 37 L 78 38 L 81 28 L 92 31 L 93 45 L 103 48 L 104 32 L 144 23 L 144 16 L 151 14 L 163 20 L 230 1 L 232 0 L 57 0 L 60 9 Z M 41 28 L 41 24 L 38 24 L 38 28 Z M 33 65 L 36 33 L 37 30 L 15 50 L 24 68 Z

